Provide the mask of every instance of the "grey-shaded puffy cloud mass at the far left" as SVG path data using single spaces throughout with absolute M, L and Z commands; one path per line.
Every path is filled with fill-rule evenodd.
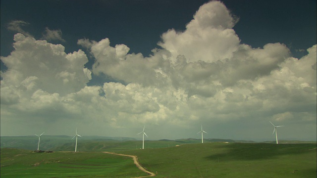
M 62 45 L 22 34 L 16 34 L 14 41 L 11 55 L 1 57 L 8 68 L 1 74 L 1 86 L 14 86 L 30 94 L 42 89 L 65 95 L 82 89 L 91 79 L 91 72 L 84 68 L 88 59 L 81 50 L 66 54 Z

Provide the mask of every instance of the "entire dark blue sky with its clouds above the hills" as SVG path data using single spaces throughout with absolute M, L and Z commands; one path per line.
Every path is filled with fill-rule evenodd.
M 0 135 L 317 139 L 316 0 L 1 0 Z

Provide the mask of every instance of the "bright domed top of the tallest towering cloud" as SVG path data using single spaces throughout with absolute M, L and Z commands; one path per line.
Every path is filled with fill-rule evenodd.
M 182 54 L 191 62 L 225 60 L 240 43 L 232 29 L 236 22 L 223 3 L 211 1 L 199 8 L 184 32 L 169 30 L 158 45 L 169 50 L 174 59 Z

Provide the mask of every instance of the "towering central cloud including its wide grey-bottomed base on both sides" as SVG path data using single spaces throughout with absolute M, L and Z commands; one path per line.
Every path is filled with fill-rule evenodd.
M 261 49 L 240 44 L 231 29 L 235 23 L 223 3 L 211 1 L 196 12 L 187 30 L 164 33 L 163 42 L 159 43 L 163 50 L 154 51 L 154 56 L 127 54 L 127 46 L 111 47 L 108 39 L 96 43 L 91 47 L 97 59 L 93 71 L 143 85 L 160 86 L 164 79 L 165 84 L 166 81 L 174 86 L 184 84 L 186 88 L 214 82 L 230 86 L 241 79 L 269 75 L 289 57 L 289 49 L 279 43 Z M 118 56 L 118 52 L 122 54 Z

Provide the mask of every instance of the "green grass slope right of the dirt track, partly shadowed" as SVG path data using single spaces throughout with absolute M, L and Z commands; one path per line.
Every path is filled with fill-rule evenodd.
M 316 178 L 316 144 L 204 143 L 122 151 L 158 178 Z

